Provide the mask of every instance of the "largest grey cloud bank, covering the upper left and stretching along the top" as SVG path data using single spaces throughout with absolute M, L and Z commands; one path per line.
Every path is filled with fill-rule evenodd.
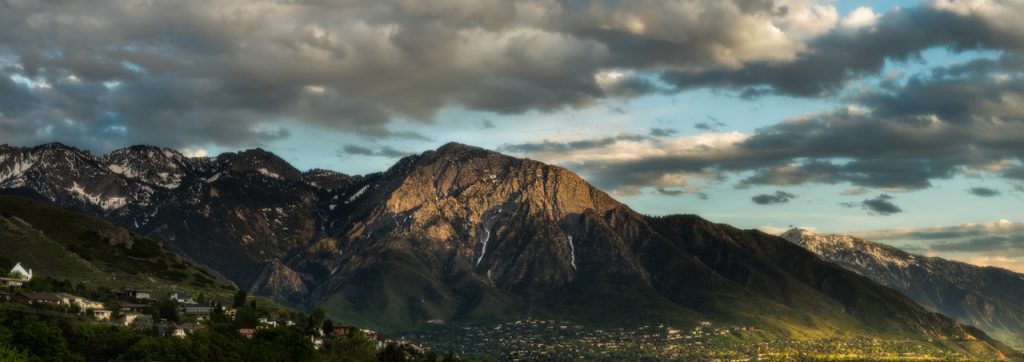
M 6 141 L 96 148 L 244 145 L 286 137 L 272 126 L 282 121 L 410 138 L 390 121 L 432 122 L 447 106 L 553 111 L 695 87 L 818 95 L 929 47 L 1017 50 L 1022 12 L 1012 2 L 971 11 L 942 2 L 851 30 L 826 2 L 769 0 L 3 6 Z

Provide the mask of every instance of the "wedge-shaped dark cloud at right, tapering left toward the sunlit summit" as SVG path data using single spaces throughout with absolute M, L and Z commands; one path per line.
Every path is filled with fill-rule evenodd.
M 981 63 L 986 61 L 938 67 L 861 91 L 838 109 L 767 126 L 731 143 L 672 148 L 666 146 L 672 140 L 658 139 L 647 141 L 650 155 L 575 156 L 565 166 L 612 189 L 665 186 L 659 180 L 678 173 L 742 175 L 739 188 L 820 183 L 913 190 L 967 172 L 1024 179 L 1024 77 L 1007 70 L 1016 63 L 1010 56 L 989 59 L 993 66 Z M 559 160 L 577 150 L 573 145 L 614 144 L 600 140 L 507 149 Z

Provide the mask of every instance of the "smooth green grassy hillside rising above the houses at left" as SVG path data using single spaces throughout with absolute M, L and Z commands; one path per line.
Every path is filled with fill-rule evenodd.
M 44 201 L 0 196 L 0 268 L 20 262 L 37 277 L 208 296 L 236 290 L 158 241 Z

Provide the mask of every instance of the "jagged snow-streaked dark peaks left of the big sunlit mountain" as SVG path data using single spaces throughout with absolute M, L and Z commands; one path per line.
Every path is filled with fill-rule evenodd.
M 132 146 L 97 157 L 58 143 L 0 146 L 0 187 L 7 193 L 110 220 L 164 241 L 242 288 L 282 300 L 305 290 L 280 276 L 294 272 L 272 261 L 315 237 L 316 193 L 349 179 L 304 175 L 261 149 L 185 157 Z M 261 284 L 267 281 L 271 285 Z

